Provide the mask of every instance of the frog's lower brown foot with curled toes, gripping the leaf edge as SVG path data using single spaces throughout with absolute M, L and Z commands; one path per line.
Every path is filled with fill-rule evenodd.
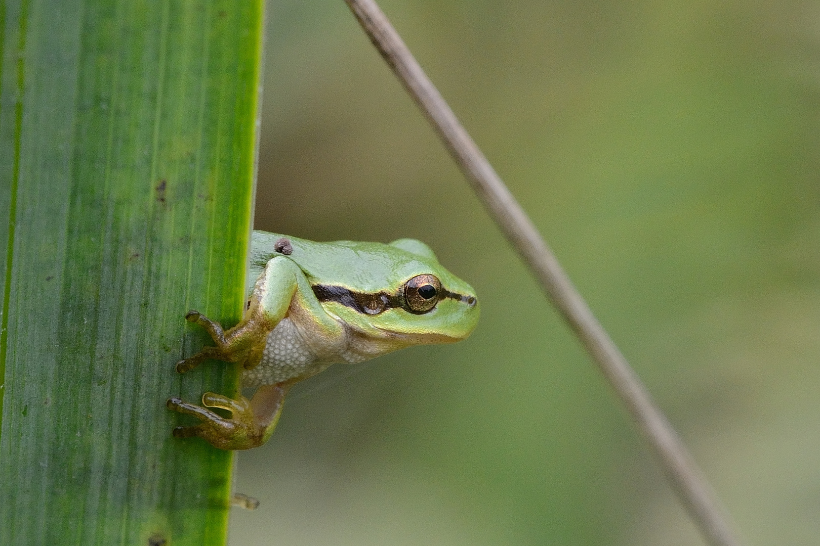
M 169 398 L 168 409 L 175 412 L 193 415 L 202 422 L 194 426 L 177 426 L 174 435 L 177 438 L 199 436 L 220 449 L 250 449 L 264 443 L 265 427 L 257 422 L 250 401 L 244 396 L 238 400 L 206 392 L 203 395 L 203 406 L 189 404 L 178 398 Z M 225 418 L 208 408 L 227 409 L 231 418 Z

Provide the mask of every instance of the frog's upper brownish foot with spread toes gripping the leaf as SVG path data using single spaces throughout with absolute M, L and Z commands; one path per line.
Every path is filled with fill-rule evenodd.
M 203 347 L 194 356 L 182 359 L 176 363 L 176 371 L 180 373 L 193 370 L 207 359 L 224 360 L 225 362 L 244 361 L 245 368 L 253 368 L 262 359 L 265 336 L 262 335 L 262 343 L 254 339 L 253 326 L 250 321 L 244 321 L 244 327 L 233 327 L 227 332 L 222 329 L 222 325 L 215 320 L 207 318 L 198 311 L 189 311 L 185 314 L 185 320 L 189 323 L 197 323 L 210 334 L 216 346 Z M 258 337 L 258 336 L 256 336 Z

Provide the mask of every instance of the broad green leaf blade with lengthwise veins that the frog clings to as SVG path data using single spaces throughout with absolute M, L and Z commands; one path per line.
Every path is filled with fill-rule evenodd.
M 231 454 L 164 407 L 238 320 L 261 2 L 6 2 L 0 544 L 224 544 Z

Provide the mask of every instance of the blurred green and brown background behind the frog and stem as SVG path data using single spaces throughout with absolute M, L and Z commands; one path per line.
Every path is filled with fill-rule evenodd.
M 381 4 L 749 544 L 818 544 L 820 2 Z M 344 2 L 267 19 L 256 227 L 420 238 L 482 318 L 299 385 L 230 544 L 703 544 Z

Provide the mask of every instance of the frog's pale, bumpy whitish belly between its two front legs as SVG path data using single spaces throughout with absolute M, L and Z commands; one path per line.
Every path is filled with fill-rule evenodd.
M 309 377 L 331 363 L 317 359 L 294 323 L 289 318 L 283 318 L 267 335 L 265 352 L 259 364 L 242 372 L 242 386 L 273 385 L 294 377 Z

